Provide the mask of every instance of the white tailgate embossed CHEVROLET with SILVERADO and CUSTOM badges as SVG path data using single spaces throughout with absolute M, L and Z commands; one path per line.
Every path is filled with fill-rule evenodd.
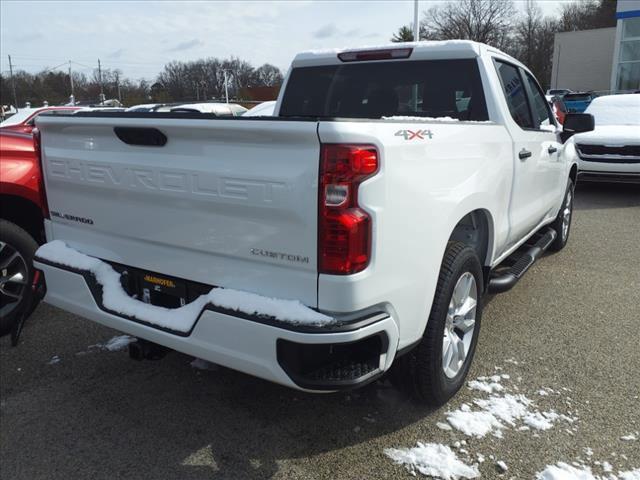
M 316 306 L 316 122 L 40 117 L 38 128 L 49 241 Z M 158 132 L 164 146 L 140 145 Z

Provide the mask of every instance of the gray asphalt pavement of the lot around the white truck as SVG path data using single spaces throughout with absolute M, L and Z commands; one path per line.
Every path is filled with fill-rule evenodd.
M 40 305 L 17 348 L 0 340 L 0 477 L 403 479 L 384 450 L 417 442 L 481 454 L 482 478 L 530 479 L 559 461 L 640 468 L 640 437 L 621 439 L 640 431 L 639 330 L 640 188 L 595 184 L 578 186 L 568 246 L 488 299 L 470 374 L 508 375 L 509 392 L 575 419 L 549 430 L 439 428 L 483 395 L 466 387 L 432 411 L 388 381 L 310 395 L 178 353 L 135 362 L 90 347 L 118 332 Z

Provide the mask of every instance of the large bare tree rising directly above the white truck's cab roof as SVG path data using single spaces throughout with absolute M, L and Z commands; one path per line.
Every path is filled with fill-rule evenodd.
M 512 0 L 459 0 L 431 7 L 422 26 L 428 40 L 474 40 L 504 48 L 515 13 Z

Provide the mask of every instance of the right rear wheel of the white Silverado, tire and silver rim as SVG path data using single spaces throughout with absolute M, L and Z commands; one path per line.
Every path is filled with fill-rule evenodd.
M 475 250 L 450 242 L 424 336 L 393 371 L 396 384 L 428 405 L 443 405 L 464 384 L 480 331 L 482 281 Z

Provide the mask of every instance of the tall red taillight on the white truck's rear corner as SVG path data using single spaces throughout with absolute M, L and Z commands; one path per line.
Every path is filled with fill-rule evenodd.
M 378 171 L 373 145 L 324 144 L 320 150 L 318 271 L 349 275 L 371 257 L 371 217 L 358 205 L 358 187 Z

